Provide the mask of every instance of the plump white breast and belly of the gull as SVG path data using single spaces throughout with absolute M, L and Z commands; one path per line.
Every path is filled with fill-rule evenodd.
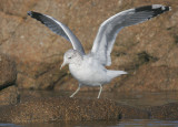
M 85 57 L 80 65 L 69 64 L 69 70 L 82 85 L 99 86 L 108 83 L 106 68 L 92 59 Z

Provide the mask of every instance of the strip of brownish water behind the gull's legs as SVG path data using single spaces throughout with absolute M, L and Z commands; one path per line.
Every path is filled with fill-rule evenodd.
M 27 99 L 27 97 L 69 97 L 72 92 L 47 92 L 47 91 L 24 91 L 22 92 L 21 99 Z M 80 92 L 75 97 L 77 98 L 97 98 L 98 91 L 93 92 Z M 103 92 L 100 98 L 107 98 L 116 100 L 120 104 L 126 104 L 135 107 L 149 107 L 149 106 L 160 106 L 168 103 L 178 102 L 178 92 L 142 92 L 142 93 L 112 93 Z

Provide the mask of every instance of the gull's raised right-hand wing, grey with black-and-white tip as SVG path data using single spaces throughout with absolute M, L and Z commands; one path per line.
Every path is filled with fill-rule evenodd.
M 101 64 L 110 65 L 110 53 L 116 36 L 122 28 L 141 23 L 169 10 L 170 7 L 152 4 L 117 13 L 100 25 L 91 53 L 100 61 Z

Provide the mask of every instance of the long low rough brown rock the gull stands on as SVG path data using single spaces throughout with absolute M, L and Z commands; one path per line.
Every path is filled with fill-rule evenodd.
M 135 107 L 110 99 L 44 97 L 31 94 L 20 103 L 0 106 L 1 123 L 178 119 L 178 103 Z

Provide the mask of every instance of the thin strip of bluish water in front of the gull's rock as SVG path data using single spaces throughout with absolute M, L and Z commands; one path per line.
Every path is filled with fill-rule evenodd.
M 7 125 L 7 126 L 6 126 Z M 43 124 L 0 124 L 0 127 L 178 127 L 178 121 L 154 119 L 125 119 L 120 121 L 70 121 Z

